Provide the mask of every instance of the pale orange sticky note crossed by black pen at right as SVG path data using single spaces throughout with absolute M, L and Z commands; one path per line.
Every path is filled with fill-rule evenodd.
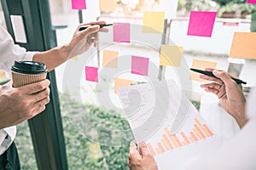
M 192 63 L 191 68 L 200 69 L 200 70 L 204 71 L 206 68 L 215 69 L 216 65 L 217 65 L 216 62 L 201 60 L 201 59 L 193 59 L 193 63 Z M 200 76 L 200 73 L 197 73 L 195 71 L 191 71 L 190 79 L 198 81 L 198 82 L 207 82 L 207 81 L 201 79 L 199 76 Z

